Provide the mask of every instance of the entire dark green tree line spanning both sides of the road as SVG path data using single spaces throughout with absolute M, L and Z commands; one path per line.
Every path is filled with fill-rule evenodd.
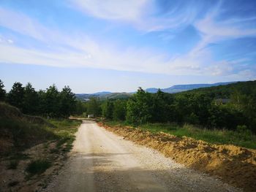
M 191 123 L 207 128 L 249 128 L 256 132 L 256 81 L 238 82 L 182 93 L 148 93 L 139 88 L 129 99 L 78 101 L 68 86 L 35 91 L 15 82 L 9 93 L 0 80 L 0 101 L 23 113 L 50 117 L 103 116 L 127 123 Z

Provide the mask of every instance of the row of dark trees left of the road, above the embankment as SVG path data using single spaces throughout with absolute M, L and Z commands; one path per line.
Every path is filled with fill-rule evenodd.
M 7 93 L 4 83 L 0 80 L 0 101 L 18 107 L 24 114 L 52 118 L 69 117 L 79 112 L 80 108 L 80 103 L 76 101 L 69 86 L 64 86 L 61 91 L 58 91 L 56 85 L 51 85 L 45 91 L 35 91 L 30 82 L 25 86 L 15 82 Z

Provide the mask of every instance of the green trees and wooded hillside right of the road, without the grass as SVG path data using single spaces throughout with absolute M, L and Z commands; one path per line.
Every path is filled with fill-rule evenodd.
M 100 105 L 100 104 L 98 104 Z M 128 123 L 191 123 L 256 132 L 256 81 L 170 94 L 139 88 L 127 101 L 107 100 L 102 115 Z

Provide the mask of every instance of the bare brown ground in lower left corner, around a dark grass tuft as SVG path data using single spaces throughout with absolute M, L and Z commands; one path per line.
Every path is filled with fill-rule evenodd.
M 45 142 L 23 153 L 1 158 L 0 191 L 41 191 L 63 166 L 67 158 L 64 148 L 64 145 L 58 146 L 57 142 Z M 37 160 L 49 162 L 50 167 L 41 173 L 29 173 L 27 167 Z

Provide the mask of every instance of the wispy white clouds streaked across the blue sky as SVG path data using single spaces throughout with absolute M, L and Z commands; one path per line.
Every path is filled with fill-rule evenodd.
M 16 39 L 13 41 L 1 36 L 0 62 L 61 67 L 79 66 L 159 74 L 255 75 L 249 73 L 246 68 L 237 71 L 244 61 L 227 61 L 226 59 L 214 61 L 211 49 L 207 47 L 209 44 L 226 39 L 256 36 L 256 29 L 253 26 L 244 26 L 244 22 L 253 22 L 255 18 L 217 20 L 221 4 L 203 18 L 197 18 L 198 9 L 189 7 L 189 4 L 180 11 L 174 6 L 164 15 L 157 15 L 157 8 L 153 6 L 153 1 L 146 0 L 73 0 L 72 4 L 92 17 L 129 22 L 146 33 L 161 30 L 168 33 L 170 29 L 192 25 L 200 33 L 201 40 L 188 53 L 176 56 L 168 54 L 167 51 L 156 53 L 148 47 L 138 48 L 129 45 L 121 51 L 114 44 L 104 44 L 84 31 L 74 30 L 73 34 L 65 34 L 64 31 L 49 28 L 24 13 L 0 7 L 0 26 L 30 37 L 43 47 L 40 49 L 21 47 L 16 44 Z M 146 10 L 145 7 L 148 9 Z M 18 39 L 19 41 L 22 42 L 23 39 Z

